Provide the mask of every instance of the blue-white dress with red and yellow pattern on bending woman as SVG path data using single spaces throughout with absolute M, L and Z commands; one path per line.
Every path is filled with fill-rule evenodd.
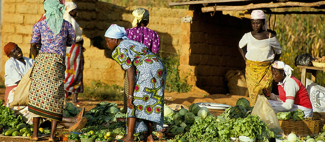
M 167 69 L 162 60 L 142 43 L 123 40 L 113 51 L 112 57 L 124 70 L 134 67 L 134 109 L 127 109 L 128 117 L 136 120 L 134 133 L 148 131 L 143 120 L 152 121 L 153 130 L 163 125 L 163 103 Z

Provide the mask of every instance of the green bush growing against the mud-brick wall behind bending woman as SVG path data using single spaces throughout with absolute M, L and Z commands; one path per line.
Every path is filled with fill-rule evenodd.
M 179 56 L 170 54 L 166 58 L 162 58 L 167 68 L 166 88 L 168 92 L 188 92 L 191 91 L 191 85 L 186 83 L 185 78 L 179 77 Z

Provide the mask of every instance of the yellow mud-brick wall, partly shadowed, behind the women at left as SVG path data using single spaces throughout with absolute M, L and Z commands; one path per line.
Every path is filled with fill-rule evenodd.
M 66 0 L 69 1 L 69 0 Z M 4 0 L 3 23 L 1 25 L 1 67 L 3 78 L 4 65 L 8 59 L 3 46 L 12 41 L 19 45 L 24 56 L 28 57 L 32 26 L 44 13 L 43 0 Z M 83 30 L 85 66 L 84 81 L 102 81 L 123 86 L 124 71 L 105 47 L 104 33 L 111 24 L 125 28 L 132 27 L 132 11 L 138 6 L 121 7 L 98 0 L 74 1 L 78 5 L 76 20 Z M 141 6 L 142 7 L 142 6 Z M 161 51 L 178 52 L 181 49 L 179 37 L 182 35 L 180 18 L 185 9 L 143 7 L 150 12 L 148 27 L 156 31 L 161 39 Z

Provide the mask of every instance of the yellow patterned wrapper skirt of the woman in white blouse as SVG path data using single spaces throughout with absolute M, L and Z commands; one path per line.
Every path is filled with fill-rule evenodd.
M 246 82 L 251 106 L 255 105 L 258 95 L 263 94 L 263 88 L 272 91 L 271 63 L 246 60 Z

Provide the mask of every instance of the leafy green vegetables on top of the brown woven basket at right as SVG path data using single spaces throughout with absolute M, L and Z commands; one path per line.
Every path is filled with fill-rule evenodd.
M 279 112 L 277 113 L 277 117 L 278 120 L 293 119 L 293 121 L 296 121 L 305 119 L 305 113 L 301 109 L 296 109 L 292 112 Z

